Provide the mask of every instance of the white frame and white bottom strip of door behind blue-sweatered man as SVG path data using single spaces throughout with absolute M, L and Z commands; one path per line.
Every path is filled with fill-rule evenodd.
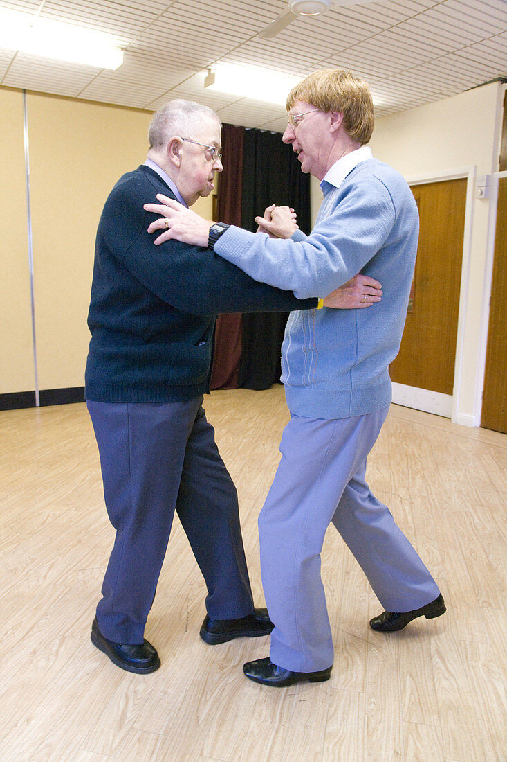
M 461 378 L 463 372 L 463 354 L 464 354 L 464 329 L 467 316 L 468 301 L 468 282 L 470 277 L 470 255 L 472 246 L 472 219 L 474 211 L 475 185 L 477 178 L 477 166 L 470 165 L 459 167 L 447 171 L 439 171 L 434 174 L 418 174 L 410 176 L 407 179 L 409 185 L 422 185 L 428 183 L 442 182 L 446 180 L 467 180 L 467 197 L 465 201 L 464 215 L 464 235 L 463 235 L 463 257 L 461 261 L 461 283 L 460 283 L 460 301 L 458 311 L 458 335 L 456 338 L 456 359 L 454 363 L 454 386 L 451 395 L 432 392 L 428 389 L 419 389 L 416 386 L 406 386 L 404 384 L 393 383 L 393 402 L 398 405 L 405 405 L 416 410 L 423 410 L 435 415 L 444 415 L 451 418 L 453 423 L 463 424 L 465 426 L 480 425 L 480 409 L 474 416 L 460 413 L 461 398 Z M 489 312 L 489 300 L 488 300 Z M 487 321 L 486 321 L 487 331 Z M 482 334 L 482 331 L 481 331 Z M 487 336 L 487 333 L 486 333 Z M 481 349 L 482 349 L 481 341 Z M 482 366 L 482 378 L 484 381 L 484 363 L 486 361 L 486 347 L 484 347 L 484 360 Z M 477 380 L 479 380 L 477 378 Z M 478 385 L 476 384 L 476 387 Z M 480 392 L 482 402 L 482 389 Z M 476 396 L 477 402 L 477 396 Z M 477 408 L 477 405 L 474 405 Z M 477 422 L 476 422 L 477 421 Z

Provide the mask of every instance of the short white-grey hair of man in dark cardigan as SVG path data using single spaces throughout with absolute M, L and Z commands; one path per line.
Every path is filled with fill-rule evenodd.
M 148 130 L 150 148 L 158 149 L 165 145 L 171 135 L 187 136 L 202 123 L 202 118 L 212 117 L 218 124 L 215 111 L 196 101 L 183 101 L 178 98 L 169 101 L 153 115 Z

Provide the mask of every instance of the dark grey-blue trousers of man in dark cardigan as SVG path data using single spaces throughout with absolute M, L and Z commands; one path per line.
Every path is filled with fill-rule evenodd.
M 116 529 L 97 622 L 115 642 L 142 643 L 174 511 L 205 578 L 209 616 L 253 612 L 238 495 L 201 403 L 202 397 L 88 402 L 107 514 Z

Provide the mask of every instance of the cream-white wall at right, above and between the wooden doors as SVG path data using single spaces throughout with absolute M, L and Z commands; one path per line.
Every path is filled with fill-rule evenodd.
M 464 272 L 456 284 L 461 304 L 452 418 L 470 426 L 480 425 L 496 213 L 494 198 L 475 197 L 475 184 L 477 177 L 498 170 L 504 91 L 505 85 L 492 82 L 384 117 L 375 123 L 370 143 L 375 157 L 408 182 L 469 177 Z M 314 215 L 321 198 L 317 181 L 311 189 Z

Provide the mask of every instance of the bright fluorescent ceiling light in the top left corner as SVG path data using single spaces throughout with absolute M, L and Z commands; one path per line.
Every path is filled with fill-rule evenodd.
M 0 11 L 0 48 L 100 69 L 123 63 L 123 50 L 108 34 L 18 11 Z

